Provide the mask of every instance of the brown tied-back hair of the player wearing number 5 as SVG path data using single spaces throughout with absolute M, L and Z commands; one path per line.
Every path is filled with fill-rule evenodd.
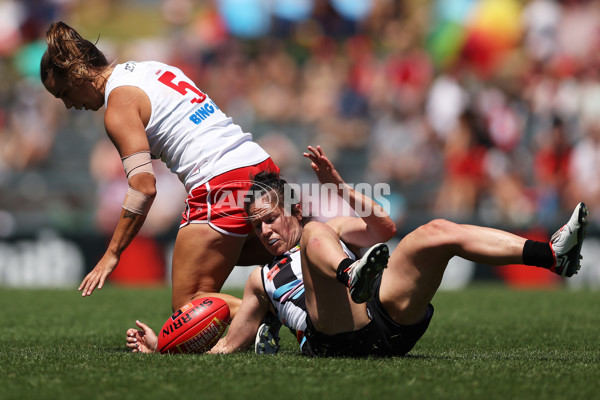
M 46 32 L 48 48 L 40 63 L 42 82 L 52 73 L 72 85 L 80 79 L 90 79 L 108 66 L 108 60 L 94 43 L 62 21 L 54 22 Z

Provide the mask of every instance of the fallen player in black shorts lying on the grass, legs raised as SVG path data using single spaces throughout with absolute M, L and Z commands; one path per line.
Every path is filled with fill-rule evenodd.
M 283 203 L 285 181 L 273 174 L 256 177 L 247 211 L 275 258 L 252 272 L 240 311 L 211 353 L 232 353 L 253 343 L 259 353 L 276 352 L 278 327 L 261 325 L 274 309 L 306 355 L 402 356 L 429 326 L 430 302 L 452 257 L 534 265 L 562 276 L 580 267 L 588 215 L 583 203 L 550 243 L 438 219 L 408 234 L 388 262 L 387 246 L 379 242 L 395 234 L 392 220 L 344 183 L 320 147 L 309 150 L 305 156 L 319 181 L 339 187 L 353 208 L 371 212 L 362 218 L 308 221 L 300 204 Z M 357 260 L 357 249 L 369 246 Z M 138 327 L 127 331 L 127 346 L 134 352 L 154 351 L 156 335 L 143 323 Z

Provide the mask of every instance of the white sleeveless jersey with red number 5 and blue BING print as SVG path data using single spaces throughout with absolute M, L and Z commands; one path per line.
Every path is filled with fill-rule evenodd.
M 140 88 L 150 99 L 146 135 L 152 158 L 177 174 L 188 192 L 269 157 L 178 68 L 155 61 L 118 64 L 106 84 L 105 104 L 120 86 Z

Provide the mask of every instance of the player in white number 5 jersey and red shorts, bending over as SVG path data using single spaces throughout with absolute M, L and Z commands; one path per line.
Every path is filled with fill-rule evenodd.
M 266 252 L 258 241 L 248 244 L 252 228 L 243 208 L 219 198 L 240 198 L 250 176 L 278 167 L 181 70 L 159 62 L 110 64 L 63 22 L 50 26 L 46 41 L 44 86 L 67 108 L 106 106 L 106 132 L 129 181 L 118 225 L 79 286 L 82 295 L 102 288 L 140 230 L 156 195 L 150 160 L 160 159 L 189 193 L 173 254 L 172 307 L 210 294 L 225 299 L 234 315 L 240 300 L 218 292 L 236 264 L 262 263 Z

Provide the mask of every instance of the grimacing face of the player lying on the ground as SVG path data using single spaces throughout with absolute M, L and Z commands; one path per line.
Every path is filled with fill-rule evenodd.
M 292 249 L 302 236 L 302 215 L 285 213 L 283 207 L 271 203 L 268 195 L 250 207 L 250 221 L 260 241 L 275 256 Z

